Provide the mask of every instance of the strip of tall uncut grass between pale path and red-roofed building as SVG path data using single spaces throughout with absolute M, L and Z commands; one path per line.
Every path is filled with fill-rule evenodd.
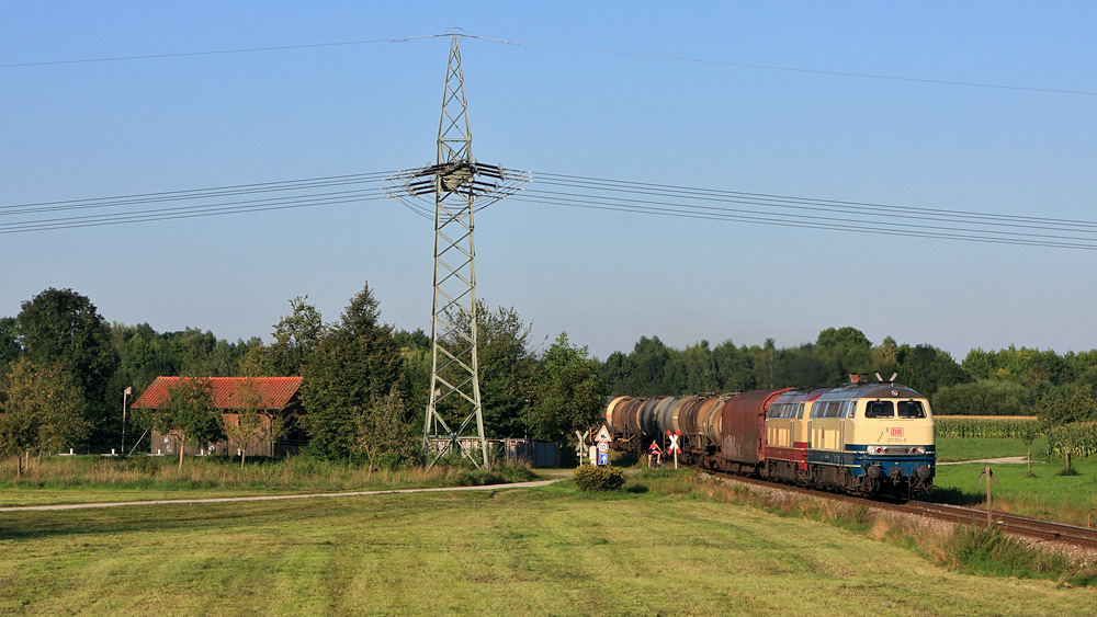
M 292 494 L 382 489 L 491 484 L 538 479 L 524 467 L 493 471 L 436 467 L 380 470 L 305 458 L 256 458 L 242 470 L 239 459 L 188 458 L 182 470 L 167 457 L 31 458 L 31 470 L 15 482 L 15 464 L 0 461 L 0 506 L 195 499 L 226 495 Z

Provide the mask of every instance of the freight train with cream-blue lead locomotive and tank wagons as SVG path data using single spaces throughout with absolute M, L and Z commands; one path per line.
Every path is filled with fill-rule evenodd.
M 850 375 L 840 388 L 736 395 L 613 397 L 614 449 L 664 448 L 679 434 L 687 465 L 851 494 L 908 500 L 932 487 L 929 401 L 894 382 Z

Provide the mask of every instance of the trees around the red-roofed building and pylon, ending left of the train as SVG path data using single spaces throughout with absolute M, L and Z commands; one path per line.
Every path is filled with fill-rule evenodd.
M 255 414 L 226 423 L 212 411 L 205 378 L 299 375 L 303 413 L 293 420 L 307 433 L 307 455 L 371 466 L 414 459 L 427 405 L 429 336 L 383 323 L 367 285 L 333 322 L 325 322 L 307 298 L 290 305 L 269 344 L 234 344 L 199 330 L 158 333 L 148 324 L 110 324 L 87 297 L 46 289 L 23 302 L 19 316 L 0 320 L 0 452 L 56 452 L 76 444 L 109 450 L 122 430 L 123 390 L 139 393 L 161 375 L 188 378 L 163 409 L 138 413 L 142 427 L 193 445 L 226 435 L 240 443 L 231 433 L 253 431 Z M 561 334 L 536 353 L 517 311 L 484 304 L 478 310 L 489 436 L 564 443 L 570 430 L 600 415 L 606 391 L 585 347 Z M 268 416 L 258 424 L 270 432 L 271 422 L 287 420 Z

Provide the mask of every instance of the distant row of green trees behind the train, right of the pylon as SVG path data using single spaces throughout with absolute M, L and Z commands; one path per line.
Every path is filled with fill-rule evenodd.
M 632 352 L 611 354 L 600 373 L 610 392 L 645 397 L 834 387 L 851 373 L 896 374 L 929 397 L 938 414 L 1039 415 L 1049 425 L 1097 420 L 1097 351 L 974 349 L 958 363 L 932 345 L 900 345 L 890 336 L 873 345 L 850 327 L 827 328 L 814 343 L 787 349 L 767 340 L 678 350 L 645 336 Z

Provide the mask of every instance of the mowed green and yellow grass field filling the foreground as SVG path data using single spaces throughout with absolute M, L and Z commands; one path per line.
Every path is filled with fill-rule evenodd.
M 643 480 L 642 480 L 643 481 Z M 3 615 L 1082 615 L 825 523 L 545 489 L 0 513 Z

